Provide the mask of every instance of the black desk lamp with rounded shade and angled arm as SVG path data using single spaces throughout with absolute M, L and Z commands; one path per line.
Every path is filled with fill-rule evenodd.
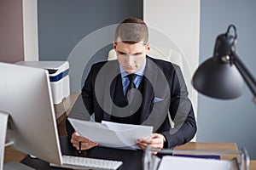
M 230 35 L 230 28 L 234 29 L 235 36 Z M 212 98 L 234 99 L 241 95 L 244 80 L 256 104 L 256 82 L 236 54 L 236 37 L 236 26 L 233 25 L 218 35 L 212 58 L 197 68 L 192 85 L 201 94 Z

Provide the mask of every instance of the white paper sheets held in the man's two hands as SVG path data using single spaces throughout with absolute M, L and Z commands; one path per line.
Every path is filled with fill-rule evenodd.
M 68 118 L 68 121 L 82 137 L 111 148 L 136 150 L 138 147 L 134 141 L 149 138 L 153 132 L 151 126 L 107 121 L 87 122 L 73 118 Z

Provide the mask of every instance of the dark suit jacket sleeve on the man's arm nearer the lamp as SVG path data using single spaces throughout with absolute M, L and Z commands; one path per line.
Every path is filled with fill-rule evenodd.
M 167 148 L 189 142 L 197 130 L 193 106 L 188 97 L 189 93 L 182 72 L 177 65 L 174 65 L 174 68 L 172 78 L 168 80 L 171 89 L 169 113 L 174 126 L 170 125 L 169 118 L 166 116 L 163 127 L 168 128 L 160 132 L 166 137 L 164 146 Z

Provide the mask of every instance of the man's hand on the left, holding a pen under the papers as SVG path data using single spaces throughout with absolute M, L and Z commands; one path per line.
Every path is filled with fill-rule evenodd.
M 77 132 L 73 133 L 71 143 L 73 144 L 73 147 L 75 147 L 77 150 L 79 150 L 79 142 L 81 142 L 81 150 L 89 150 L 90 148 L 98 145 L 96 142 L 93 142 L 90 139 L 81 137 Z

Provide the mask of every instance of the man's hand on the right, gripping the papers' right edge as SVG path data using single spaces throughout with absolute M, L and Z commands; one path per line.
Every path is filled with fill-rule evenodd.
M 135 144 L 140 147 L 142 150 L 146 150 L 149 145 L 152 150 L 161 150 L 164 147 L 164 142 L 166 138 L 160 133 L 153 133 L 149 139 L 137 139 Z M 157 151 L 153 151 L 153 154 L 156 154 Z

